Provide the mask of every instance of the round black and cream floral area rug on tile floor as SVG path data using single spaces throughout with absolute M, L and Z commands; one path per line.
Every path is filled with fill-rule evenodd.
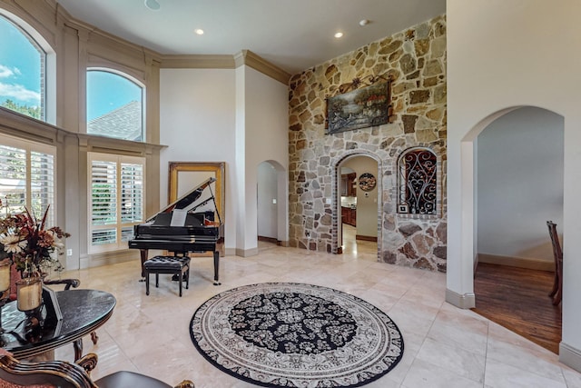
M 267 283 L 213 296 L 190 323 L 213 365 L 262 386 L 357 387 L 388 373 L 403 355 L 398 326 L 349 293 L 310 284 Z

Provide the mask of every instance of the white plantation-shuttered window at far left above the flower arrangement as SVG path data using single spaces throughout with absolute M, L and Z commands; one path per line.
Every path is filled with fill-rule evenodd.
M 50 205 L 46 224 L 55 223 L 55 173 L 51 145 L 27 142 L 10 136 L 0 140 L 0 199 L 2 212 L 22 213 L 27 208 L 37 218 Z

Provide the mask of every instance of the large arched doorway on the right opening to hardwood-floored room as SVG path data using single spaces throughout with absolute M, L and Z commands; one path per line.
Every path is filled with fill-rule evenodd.
M 483 125 L 473 155 L 475 311 L 555 353 L 560 306 L 547 294 L 552 276 L 541 273 L 554 264 L 546 223 L 563 220 L 563 151 L 563 117 L 526 106 Z

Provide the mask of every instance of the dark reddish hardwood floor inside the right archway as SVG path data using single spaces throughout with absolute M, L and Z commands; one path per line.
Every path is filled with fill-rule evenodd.
M 558 354 L 561 305 L 548 296 L 554 274 L 497 264 L 478 264 L 475 313 Z

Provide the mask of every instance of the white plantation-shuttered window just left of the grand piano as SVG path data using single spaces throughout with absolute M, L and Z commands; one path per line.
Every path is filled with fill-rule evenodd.
M 90 253 L 127 247 L 143 222 L 144 159 L 89 153 Z

